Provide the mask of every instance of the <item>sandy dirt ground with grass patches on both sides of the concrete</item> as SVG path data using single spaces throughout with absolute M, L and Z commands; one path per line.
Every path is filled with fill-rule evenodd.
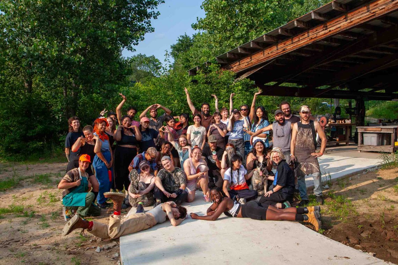
M 119 240 L 101 240 L 88 232 L 80 236 L 78 230 L 62 236 L 65 222 L 56 186 L 65 168 L 66 163 L 0 164 L 0 181 L 17 182 L 0 190 L 0 264 L 119 262 Z M 322 234 L 398 264 L 397 168 L 340 180 L 324 195 Z M 92 220 L 107 223 L 102 211 Z M 100 253 L 97 247 L 103 248 Z

